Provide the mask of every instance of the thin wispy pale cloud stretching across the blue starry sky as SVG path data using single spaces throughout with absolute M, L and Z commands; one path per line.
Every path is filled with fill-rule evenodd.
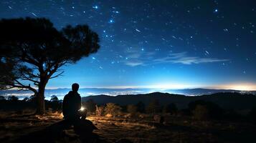
M 169 56 L 162 58 L 154 58 L 153 53 L 151 54 L 131 54 L 130 59 L 123 61 L 128 66 L 146 66 L 150 64 L 202 64 L 202 63 L 213 63 L 213 62 L 224 62 L 229 59 L 217 59 L 217 58 L 202 58 L 199 56 L 188 56 L 187 52 L 171 53 Z

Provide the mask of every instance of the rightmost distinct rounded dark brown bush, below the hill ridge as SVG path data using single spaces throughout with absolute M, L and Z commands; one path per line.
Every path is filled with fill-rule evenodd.
M 196 108 L 193 110 L 193 116 L 194 116 L 194 119 L 198 119 L 198 120 L 208 119 L 209 111 L 207 107 L 198 104 L 196 105 Z

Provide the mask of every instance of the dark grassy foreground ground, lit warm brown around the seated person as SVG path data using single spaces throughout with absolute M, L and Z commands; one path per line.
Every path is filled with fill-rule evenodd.
M 165 124 L 150 118 L 87 119 L 98 127 L 93 134 L 76 134 L 72 127 L 62 129 L 59 113 L 1 112 L 0 142 L 256 142 L 256 127 L 246 122 L 195 122 L 181 117 L 169 117 Z

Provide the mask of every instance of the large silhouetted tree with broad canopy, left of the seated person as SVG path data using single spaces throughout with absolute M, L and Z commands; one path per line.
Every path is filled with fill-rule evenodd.
M 37 96 L 37 114 L 45 112 L 44 89 L 65 64 L 75 64 L 99 49 L 98 34 L 87 25 L 58 31 L 48 19 L 1 19 L 1 89 L 29 89 Z M 30 86 L 28 82 L 34 84 Z

